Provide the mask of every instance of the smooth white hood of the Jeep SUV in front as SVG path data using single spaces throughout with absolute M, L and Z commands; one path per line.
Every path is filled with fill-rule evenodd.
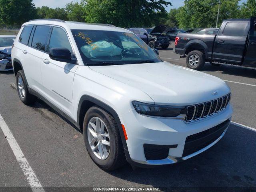
M 90 66 L 90 68 L 141 90 L 156 104 L 198 104 L 230 92 L 226 83 L 217 77 L 169 62 Z M 212 96 L 212 92 L 217 92 L 218 95 Z

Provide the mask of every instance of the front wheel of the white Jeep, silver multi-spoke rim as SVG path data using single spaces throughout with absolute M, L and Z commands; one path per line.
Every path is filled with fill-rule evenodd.
M 100 125 L 104 125 L 104 128 L 101 128 L 101 131 L 98 131 L 98 133 L 96 133 L 96 130 L 94 129 L 97 121 L 100 122 Z M 91 126 L 92 123 L 94 126 Z M 96 137 L 92 136 L 92 130 L 94 131 L 93 134 L 96 134 Z M 83 133 L 84 143 L 90 158 L 92 158 L 94 163 L 102 170 L 116 170 L 126 163 L 118 125 L 111 114 L 96 106 L 88 109 L 84 116 Z M 109 134 L 109 137 L 105 136 L 107 133 Z M 90 145 L 90 141 L 94 143 Z M 109 142 L 110 147 L 103 144 L 103 142 Z M 99 147 L 97 148 L 95 146 Z M 92 148 L 94 148 L 94 151 Z M 100 149 L 102 149 L 101 151 L 103 152 L 102 154 L 104 154 L 104 156 L 101 156 Z

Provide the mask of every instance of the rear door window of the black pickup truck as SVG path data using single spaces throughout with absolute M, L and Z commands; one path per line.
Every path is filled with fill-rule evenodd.
M 222 34 L 226 36 L 246 36 L 247 22 L 228 22 Z

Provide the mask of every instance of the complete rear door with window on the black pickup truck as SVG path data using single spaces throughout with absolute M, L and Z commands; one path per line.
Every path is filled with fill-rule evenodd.
M 249 21 L 224 23 L 214 42 L 213 60 L 240 65 L 249 28 Z

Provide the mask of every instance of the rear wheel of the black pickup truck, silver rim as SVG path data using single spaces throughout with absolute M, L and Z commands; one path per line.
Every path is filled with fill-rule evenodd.
M 205 64 L 204 54 L 201 51 L 191 51 L 186 57 L 186 64 L 190 69 L 202 69 Z

